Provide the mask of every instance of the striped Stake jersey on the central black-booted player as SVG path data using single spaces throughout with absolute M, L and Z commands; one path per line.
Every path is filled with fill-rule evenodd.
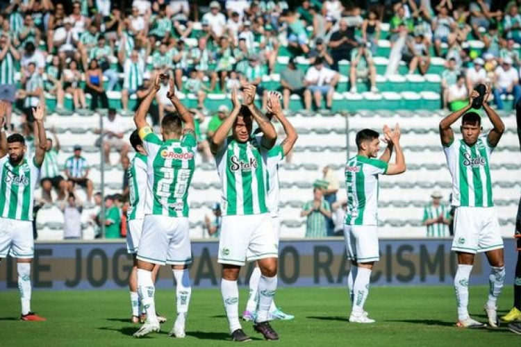
M 223 216 L 267 213 L 267 149 L 262 134 L 240 143 L 226 138 L 215 154 L 222 185 Z

